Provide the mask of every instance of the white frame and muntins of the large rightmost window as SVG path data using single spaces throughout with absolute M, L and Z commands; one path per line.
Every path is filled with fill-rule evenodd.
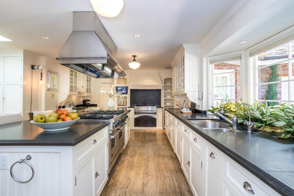
M 254 57 L 250 57 L 250 63 L 252 64 L 252 68 L 251 68 L 251 72 L 254 74 L 254 80 L 253 80 L 253 85 L 251 89 L 253 89 L 253 98 L 258 100 L 258 102 L 264 102 L 264 100 L 260 100 L 258 99 L 258 86 L 260 85 L 266 85 L 266 84 L 276 84 L 276 83 L 283 83 L 283 82 L 288 82 L 288 100 L 266 100 L 268 102 L 286 102 L 288 104 L 293 104 L 294 103 L 294 99 L 291 100 L 291 82 L 294 81 L 294 76 L 292 77 L 292 62 L 294 62 L 294 58 L 292 58 L 292 47 L 291 47 L 291 43 L 293 42 L 294 40 L 292 41 L 287 41 L 285 42 L 284 44 L 281 44 L 279 46 L 282 46 L 282 45 L 285 45 L 285 44 L 288 44 L 288 59 L 284 59 L 284 60 L 281 60 L 279 62 L 275 62 L 275 63 L 272 63 L 272 64 L 268 64 L 268 65 L 264 65 L 262 67 L 258 67 L 258 55 L 260 54 L 257 54 L 255 55 Z M 279 46 L 276 46 L 274 48 L 277 48 Z M 273 48 L 273 49 L 274 49 Z M 264 52 L 267 52 L 267 51 L 270 51 L 272 49 L 269 49 L 269 50 L 266 50 Z M 264 52 L 262 52 L 261 54 L 263 54 Z M 265 67 L 270 67 L 272 65 L 275 65 L 275 64 L 281 64 L 281 63 L 285 63 L 285 62 L 288 62 L 288 80 L 281 80 L 281 81 L 275 81 L 275 82 L 264 82 L 264 83 L 258 83 L 258 69 L 262 69 L 262 68 L 265 68 Z M 251 98 L 251 103 L 253 103 L 254 100 L 252 100 Z

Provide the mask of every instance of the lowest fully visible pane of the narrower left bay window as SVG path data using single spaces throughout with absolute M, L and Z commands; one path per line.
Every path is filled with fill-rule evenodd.
M 240 86 L 237 87 L 214 87 L 213 99 L 241 99 Z

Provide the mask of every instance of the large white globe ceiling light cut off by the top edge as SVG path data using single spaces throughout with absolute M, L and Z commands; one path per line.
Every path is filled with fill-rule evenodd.
M 123 8 L 123 0 L 90 0 L 94 10 L 105 17 L 115 17 Z

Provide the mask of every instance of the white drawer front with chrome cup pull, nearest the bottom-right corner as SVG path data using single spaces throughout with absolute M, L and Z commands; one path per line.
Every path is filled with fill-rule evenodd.
M 245 170 L 238 163 L 230 159 L 228 156 L 224 155 L 224 170 L 223 170 L 224 181 L 231 188 L 235 188 L 241 195 L 251 196 L 252 192 L 248 192 L 243 187 L 244 185 L 250 186 L 254 192 L 254 195 L 263 196 L 275 196 L 279 195 L 268 185 L 263 183 L 253 174 Z

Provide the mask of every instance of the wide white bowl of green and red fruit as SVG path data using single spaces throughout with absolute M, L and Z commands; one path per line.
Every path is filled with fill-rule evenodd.
M 76 112 L 69 113 L 67 110 L 56 109 L 47 116 L 37 114 L 30 122 L 44 129 L 44 131 L 60 131 L 69 127 L 80 119 Z

